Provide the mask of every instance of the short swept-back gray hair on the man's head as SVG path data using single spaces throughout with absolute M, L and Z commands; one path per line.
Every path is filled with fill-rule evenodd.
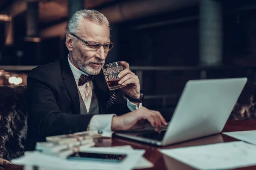
M 99 25 L 105 24 L 110 30 L 109 21 L 104 14 L 94 9 L 84 9 L 81 11 L 76 11 L 76 13 L 70 18 L 67 25 L 67 34 L 77 34 L 79 30 L 81 30 L 81 21 L 85 18 L 88 18 Z

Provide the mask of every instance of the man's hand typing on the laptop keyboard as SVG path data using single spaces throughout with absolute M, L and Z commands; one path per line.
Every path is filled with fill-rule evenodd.
M 167 126 L 160 112 L 143 107 L 122 116 L 113 116 L 111 130 L 139 129 L 147 123 L 150 123 L 158 133 L 160 133 L 162 125 Z

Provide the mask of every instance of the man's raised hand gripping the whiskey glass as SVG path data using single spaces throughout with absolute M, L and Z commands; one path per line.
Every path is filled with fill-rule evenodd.
M 136 76 L 130 70 L 130 66 L 128 62 L 121 61 L 121 65 L 123 65 L 124 70 L 121 71 L 118 75 L 119 78 L 119 85 L 126 85 L 125 87 L 121 88 L 123 92 L 127 95 L 139 99 L 140 98 L 140 80 L 138 76 Z

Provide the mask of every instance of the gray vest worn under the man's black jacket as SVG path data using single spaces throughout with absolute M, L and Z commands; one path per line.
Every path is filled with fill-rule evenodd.
M 99 103 L 98 103 L 98 99 L 94 92 L 94 85 L 93 85 L 92 99 L 91 99 L 91 103 L 90 103 L 89 113 L 87 112 L 86 106 L 84 104 L 84 100 L 83 100 L 79 90 L 78 90 L 78 94 L 79 94 L 80 113 L 81 114 L 99 114 Z

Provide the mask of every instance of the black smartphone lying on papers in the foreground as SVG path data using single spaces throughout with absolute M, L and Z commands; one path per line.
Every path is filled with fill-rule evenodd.
M 109 162 L 121 162 L 127 155 L 125 154 L 108 154 L 108 153 L 87 153 L 79 152 L 74 153 L 67 157 L 67 159 L 73 160 L 88 160 L 88 161 L 109 161 Z

